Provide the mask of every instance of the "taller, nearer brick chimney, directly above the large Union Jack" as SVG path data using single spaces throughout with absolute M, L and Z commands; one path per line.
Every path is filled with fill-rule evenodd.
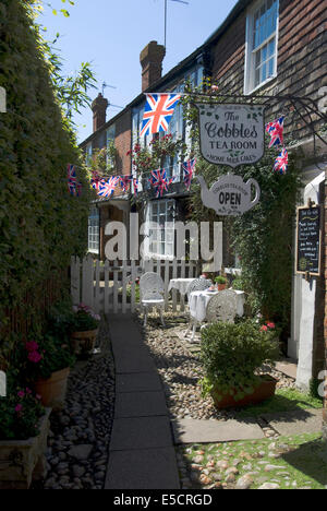
M 140 55 L 142 66 L 142 92 L 149 88 L 162 74 L 162 60 L 166 55 L 165 46 L 152 40 Z

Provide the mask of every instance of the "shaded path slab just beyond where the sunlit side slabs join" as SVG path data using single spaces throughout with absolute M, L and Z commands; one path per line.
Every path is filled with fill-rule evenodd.
M 168 409 L 162 391 L 123 392 L 116 397 L 114 418 L 152 417 L 167 414 Z

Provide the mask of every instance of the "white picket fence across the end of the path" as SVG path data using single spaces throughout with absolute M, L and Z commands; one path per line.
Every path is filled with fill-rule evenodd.
M 108 261 L 100 263 L 90 255 L 71 258 L 71 295 L 73 304 L 85 304 L 97 313 L 134 312 L 140 307 L 136 280 L 146 272 L 156 272 L 165 283 L 165 310 L 184 311 L 184 297 L 177 289 L 168 292 L 171 278 L 193 278 L 197 265 L 184 260 Z

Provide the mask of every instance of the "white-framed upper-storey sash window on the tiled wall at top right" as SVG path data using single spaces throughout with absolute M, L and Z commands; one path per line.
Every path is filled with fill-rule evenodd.
M 275 80 L 277 76 L 277 60 L 278 60 L 278 33 L 279 33 L 279 0 L 277 0 L 277 20 L 276 20 L 276 31 L 269 35 L 256 49 L 255 52 L 261 50 L 269 40 L 275 38 L 275 62 L 274 71 L 270 76 L 265 81 L 261 82 L 258 85 L 255 83 L 255 67 L 254 58 L 255 52 L 253 50 L 253 33 L 254 33 L 254 14 L 259 9 L 259 7 L 266 2 L 266 0 L 257 1 L 247 12 L 246 15 L 246 36 L 245 36 L 245 64 L 244 64 L 244 94 L 252 94 L 258 88 L 267 85 L 271 80 Z

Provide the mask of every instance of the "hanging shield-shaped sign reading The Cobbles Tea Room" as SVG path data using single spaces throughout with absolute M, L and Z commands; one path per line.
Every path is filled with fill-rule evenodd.
M 265 152 L 263 105 L 196 103 L 203 157 L 216 165 L 252 165 Z

